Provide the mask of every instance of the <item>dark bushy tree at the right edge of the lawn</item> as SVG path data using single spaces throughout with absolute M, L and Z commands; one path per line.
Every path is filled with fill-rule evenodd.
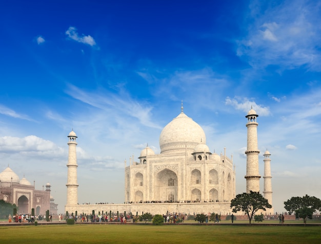
M 321 211 L 321 200 L 315 196 L 293 196 L 284 202 L 284 208 L 289 211 L 289 214 L 295 212 L 295 217 L 303 218 L 304 224 L 307 224 L 307 217 L 312 219 L 315 211 Z

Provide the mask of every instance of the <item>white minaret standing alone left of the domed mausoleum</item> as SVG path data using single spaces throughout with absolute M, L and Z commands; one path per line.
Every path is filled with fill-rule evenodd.
M 78 204 L 78 193 L 77 193 L 77 155 L 76 155 L 76 134 L 72 130 L 68 136 L 68 175 L 67 175 L 67 205 Z

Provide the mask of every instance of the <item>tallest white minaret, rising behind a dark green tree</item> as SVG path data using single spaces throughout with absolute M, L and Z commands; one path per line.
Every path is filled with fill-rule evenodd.
M 245 116 L 248 119 L 246 127 L 248 128 L 248 140 L 246 154 L 246 192 L 250 191 L 259 192 L 259 179 L 261 176 L 258 172 L 258 154 L 257 149 L 257 125 L 256 118 L 258 115 L 251 107 L 248 115 Z

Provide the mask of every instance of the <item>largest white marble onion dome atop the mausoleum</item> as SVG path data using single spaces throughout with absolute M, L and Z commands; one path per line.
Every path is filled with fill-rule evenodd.
M 184 153 L 201 142 L 206 144 L 204 130 L 182 111 L 160 133 L 160 153 Z

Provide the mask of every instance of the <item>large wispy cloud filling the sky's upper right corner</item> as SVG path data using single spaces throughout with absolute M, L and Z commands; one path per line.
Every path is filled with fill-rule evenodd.
M 248 33 L 238 41 L 237 55 L 256 68 L 301 65 L 320 71 L 321 19 L 319 1 L 254 1 L 248 16 Z M 263 10 L 264 8 L 264 10 Z

